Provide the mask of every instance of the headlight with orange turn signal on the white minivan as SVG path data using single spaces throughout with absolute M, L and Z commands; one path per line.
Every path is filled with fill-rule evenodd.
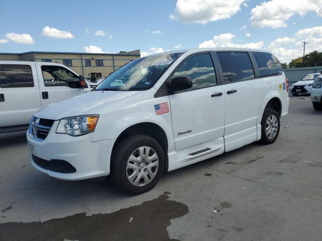
M 94 132 L 98 115 L 81 115 L 60 120 L 56 133 L 64 133 L 70 136 L 82 136 Z

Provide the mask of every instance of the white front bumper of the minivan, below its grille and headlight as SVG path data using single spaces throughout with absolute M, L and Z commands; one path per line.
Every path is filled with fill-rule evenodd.
M 39 162 L 30 157 L 31 164 L 39 171 L 51 177 L 62 180 L 83 180 L 110 174 L 110 156 L 114 140 L 103 140 L 92 142 L 93 133 L 72 137 L 66 134 L 56 134 L 58 121 L 56 121 L 48 136 L 43 141 L 37 141 L 29 137 L 27 141 L 32 155 L 46 161 L 62 160 L 76 169 L 72 173 L 64 173 L 43 168 Z

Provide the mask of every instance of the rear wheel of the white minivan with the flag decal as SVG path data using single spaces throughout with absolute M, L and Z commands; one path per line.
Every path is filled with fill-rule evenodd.
M 275 109 L 266 108 L 262 117 L 262 144 L 272 144 L 280 132 L 280 116 Z

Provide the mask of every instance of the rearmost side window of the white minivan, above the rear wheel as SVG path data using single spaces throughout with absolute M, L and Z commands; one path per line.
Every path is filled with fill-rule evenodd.
M 253 52 L 260 76 L 279 75 L 283 72 L 282 65 L 277 58 L 265 52 Z

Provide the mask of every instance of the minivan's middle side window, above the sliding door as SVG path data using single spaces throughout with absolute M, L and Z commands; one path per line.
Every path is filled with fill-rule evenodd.
M 219 52 L 217 53 L 224 83 L 253 79 L 254 69 L 248 53 Z

